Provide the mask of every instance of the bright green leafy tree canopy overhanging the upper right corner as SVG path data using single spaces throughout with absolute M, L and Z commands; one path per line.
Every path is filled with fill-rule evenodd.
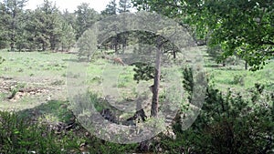
M 133 4 L 174 18 L 209 47 L 220 46 L 219 62 L 236 55 L 258 70 L 274 56 L 272 0 L 133 0 Z

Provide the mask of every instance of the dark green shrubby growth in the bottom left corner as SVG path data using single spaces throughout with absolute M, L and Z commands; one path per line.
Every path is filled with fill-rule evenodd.
M 27 122 L 14 112 L 0 111 L 0 153 L 69 153 L 76 147 L 74 139 L 59 139 L 46 126 Z

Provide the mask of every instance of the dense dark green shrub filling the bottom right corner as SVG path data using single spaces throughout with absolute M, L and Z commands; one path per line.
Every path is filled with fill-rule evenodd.
M 184 82 L 188 84 L 185 87 L 191 87 L 190 83 Z M 205 104 L 192 127 L 182 131 L 178 122 L 174 125 L 177 137 L 182 139 L 182 149 L 177 152 L 185 152 L 183 149 L 210 154 L 273 152 L 274 93 L 264 92 L 264 87 L 256 84 L 250 96 L 243 98 L 231 90 L 222 93 L 207 87 Z

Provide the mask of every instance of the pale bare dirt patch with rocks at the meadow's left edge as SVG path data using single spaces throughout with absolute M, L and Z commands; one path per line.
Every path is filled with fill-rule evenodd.
M 3 104 L 8 103 L 33 103 L 31 99 L 37 100 L 37 103 L 47 102 L 52 99 L 65 100 L 65 79 L 63 78 L 12 78 L 0 77 L 0 101 Z M 9 109 L 9 107 L 1 107 Z M 16 108 L 20 109 L 20 108 Z

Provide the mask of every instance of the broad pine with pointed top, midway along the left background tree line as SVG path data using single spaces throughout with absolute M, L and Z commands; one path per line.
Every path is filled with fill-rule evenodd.
M 62 35 L 62 16 L 56 5 L 45 0 L 34 12 L 29 12 L 26 30 L 32 49 L 58 49 Z

